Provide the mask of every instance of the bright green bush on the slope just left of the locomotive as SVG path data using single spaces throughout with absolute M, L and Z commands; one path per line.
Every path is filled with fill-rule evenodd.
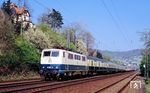
M 15 40 L 16 54 L 19 56 L 21 62 L 36 63 L 40 60 L 40 55 L 37 50 L 24 38 L 18 37 Z

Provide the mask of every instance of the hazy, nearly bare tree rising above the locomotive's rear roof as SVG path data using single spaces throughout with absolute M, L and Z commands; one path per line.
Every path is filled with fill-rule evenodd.
M 76 45 L 77 52 L 87 54 L 93 48 L 94 37 L 81 24 L 74 23 L 65 28 L 63 34 L 69 42 Z

